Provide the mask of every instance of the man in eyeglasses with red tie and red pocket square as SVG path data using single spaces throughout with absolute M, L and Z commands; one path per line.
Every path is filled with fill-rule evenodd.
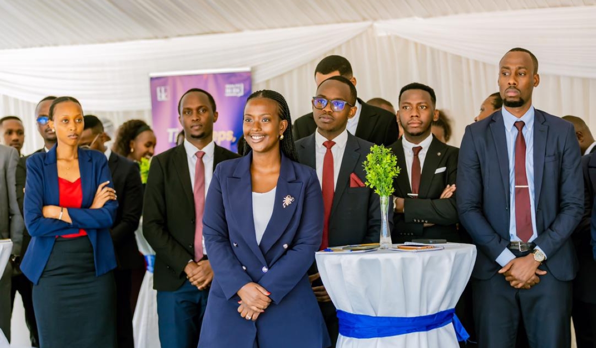
M 362 167 L 374 144 L 346 129 L 348 120 L 356 114 L 355 104 L 356 88 L 349 79 L 333 76 L 321 82 L 312 98 L 316 131 L 296 141 L 300 162 L 315 168 L 321 182 L 325 210 L 321 250 L 379 240 L 380 202 L 364 185 L 366 174 Z M 336 309 L 316 265 L 309 275 L 334 347 L 339 334 Z

